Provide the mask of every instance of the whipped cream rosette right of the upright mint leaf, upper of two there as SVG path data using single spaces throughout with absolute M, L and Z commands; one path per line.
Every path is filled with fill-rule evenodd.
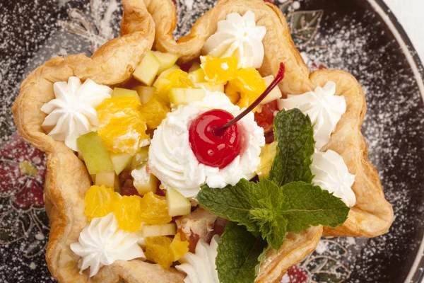
M 315 91 L 288 96 L 278 102 L 280 110 L 299 108 L 304 114 L 309 115 L 314 125 L 315 148 L 318 150 L 329 142 L 341 115 L 346 112 L 344 96 L 335 96 L 335 93 L 336 83 L 329 81 L 324 88 L 319 86 Z

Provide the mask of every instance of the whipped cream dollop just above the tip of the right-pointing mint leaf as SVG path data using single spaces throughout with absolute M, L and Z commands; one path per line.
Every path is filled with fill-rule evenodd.
M 356 202 L 355 192 L 352 185 L 355 183 L 355 175 L 349 173 L 348 166 L 336 151 L 316 151 L 312 156 L 312 183 L 319 185 L 323 190 L 333 192 L 340 197 L 348 207 L 353 207 Z

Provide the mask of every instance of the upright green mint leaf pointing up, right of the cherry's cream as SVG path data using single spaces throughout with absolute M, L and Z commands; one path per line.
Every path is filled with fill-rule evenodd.
M 312 183 L 310 165 L 315 141 L 310 117 L 296 108 L 281 110 L 273 125 L 278 146 L 269 178 L 279 187 L 296 181 Z

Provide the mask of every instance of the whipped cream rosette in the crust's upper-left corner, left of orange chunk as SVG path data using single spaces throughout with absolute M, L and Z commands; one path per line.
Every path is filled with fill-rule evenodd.
M 76 76 L 53 85 L 55 99 L 42 105 L 47 117 L 42 128 L 57 141 L 65 141 L 66 146 L 78 151 L 76 139 L 93 132 L 99 125 L 95 108 L 106 98 L 110 98 L 112 88 L 102 86 L 90 79 L 84 83 Z

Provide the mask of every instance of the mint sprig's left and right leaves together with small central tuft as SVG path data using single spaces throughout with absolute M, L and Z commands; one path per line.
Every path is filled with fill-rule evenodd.
M 331 226 L 346 221 L 349 208 L 338 197 L 318 186 L 294 182 L 278 187 L 271 180 L 259 183 L 242 179 L 235 186 L 213 189 L 202 186 L 199 204 L 214 214 L 246 226 L 278 250 L 286 232 L 300 233 L 309 226 Z

